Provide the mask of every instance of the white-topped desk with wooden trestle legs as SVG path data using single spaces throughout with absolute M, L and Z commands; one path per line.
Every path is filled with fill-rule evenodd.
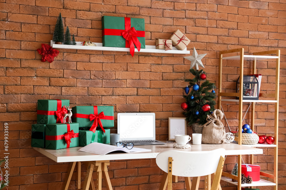
M 109 160 L 126 160 L 126 159 L 146 159 L 146 158 L 156 158 L 157 154 L 166 150 L 174 150 L 173 143 L 163 144 L 163 145 L 140 145 L 135 146 L 138 148 L 146 148 L 151 149 L 150 152 L 138 152 L 138 153 L 114 153 L 114 154 L 107 154 L 107 155 L 98 155 L 98 154 L 91 154 L 87 152 L 78 151 L 81 147 L 73 147 L 73 148 L 66 148 L 66 149 L 59 149 L 59 150 L 50 150 L 44 148 L 35 148 L 41 154 L 47 156 L 48 158 L 54 160 L 55 162 L 72 162 L 69 168 L 69 175 L 65 181 L 65 188 L 67 189 L 69 181 L 72 177 L 72 173 L 74 171 L 74 167 L 76 162 L 89 162 L 88 165 L 88 175 L 86 175 L 86 179 L 84 181 L 84 188 L 88 189 L 90 181 L 92 181 L 92 171 L 94 167 L 97 167 L 97 171 L 99 172 L 97 187 L 101 189 L 101 175 L 103 172 L 104 179 L 106 180 L 107 189 L 111 189 L 110 179 L 107 173 L 107 165 L 109 165 Z M 192 145 L 191 148 L 188 149 L 176 149 L 181 151 L 210 151 L 215 150 L 218 148 L 224 148 L 226 150 L 226 155 L 244 155 L 244 154 L 263 154 L 262 149 L 253 148 L 249 146 L 243 146 L 239 144 L 201 144 L 201 145 Z M 100 179 L 100 180 L 99 180 Z M 78 182 L 80 183 L 80 181 Z M 93 189 L 94 187 L 92 187 Z

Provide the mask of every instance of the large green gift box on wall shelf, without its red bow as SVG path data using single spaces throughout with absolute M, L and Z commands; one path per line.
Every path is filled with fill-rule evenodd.
M 135 34 L 141 43 L 141 48 L 145 48 L 145 20 L 129 17 L 102 17 L 102 44 L 106 47 L 130 48 L 129 42 L 122 36 L 123 31 L 128 31 L 134 27 Z

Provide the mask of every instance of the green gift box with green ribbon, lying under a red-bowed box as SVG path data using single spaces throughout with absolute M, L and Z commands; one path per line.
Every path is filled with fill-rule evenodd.
M 79 146 L 86 146 L 93 142 L 109 144 L 110 129 L 105 129 L 105 133 L 101 129 L 96 130 L 95 133 L 90 130 L 79 130 Z

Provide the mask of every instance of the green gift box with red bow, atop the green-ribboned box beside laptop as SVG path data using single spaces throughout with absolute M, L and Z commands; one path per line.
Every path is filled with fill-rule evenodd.
M 75 106 L 72 113 L 72 122 L 78 122 L 85 130 L 114 127 L 113 106 Z

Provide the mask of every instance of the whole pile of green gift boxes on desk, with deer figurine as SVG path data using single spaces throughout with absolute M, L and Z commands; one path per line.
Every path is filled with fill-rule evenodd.
M 76 106 L 69 100 L 38 100 L 37 124 L 32 125 L 31 146 L 61 149 L 110 143 L 113 106 Z M 72 118 L 70 122 L 69 118 Z

